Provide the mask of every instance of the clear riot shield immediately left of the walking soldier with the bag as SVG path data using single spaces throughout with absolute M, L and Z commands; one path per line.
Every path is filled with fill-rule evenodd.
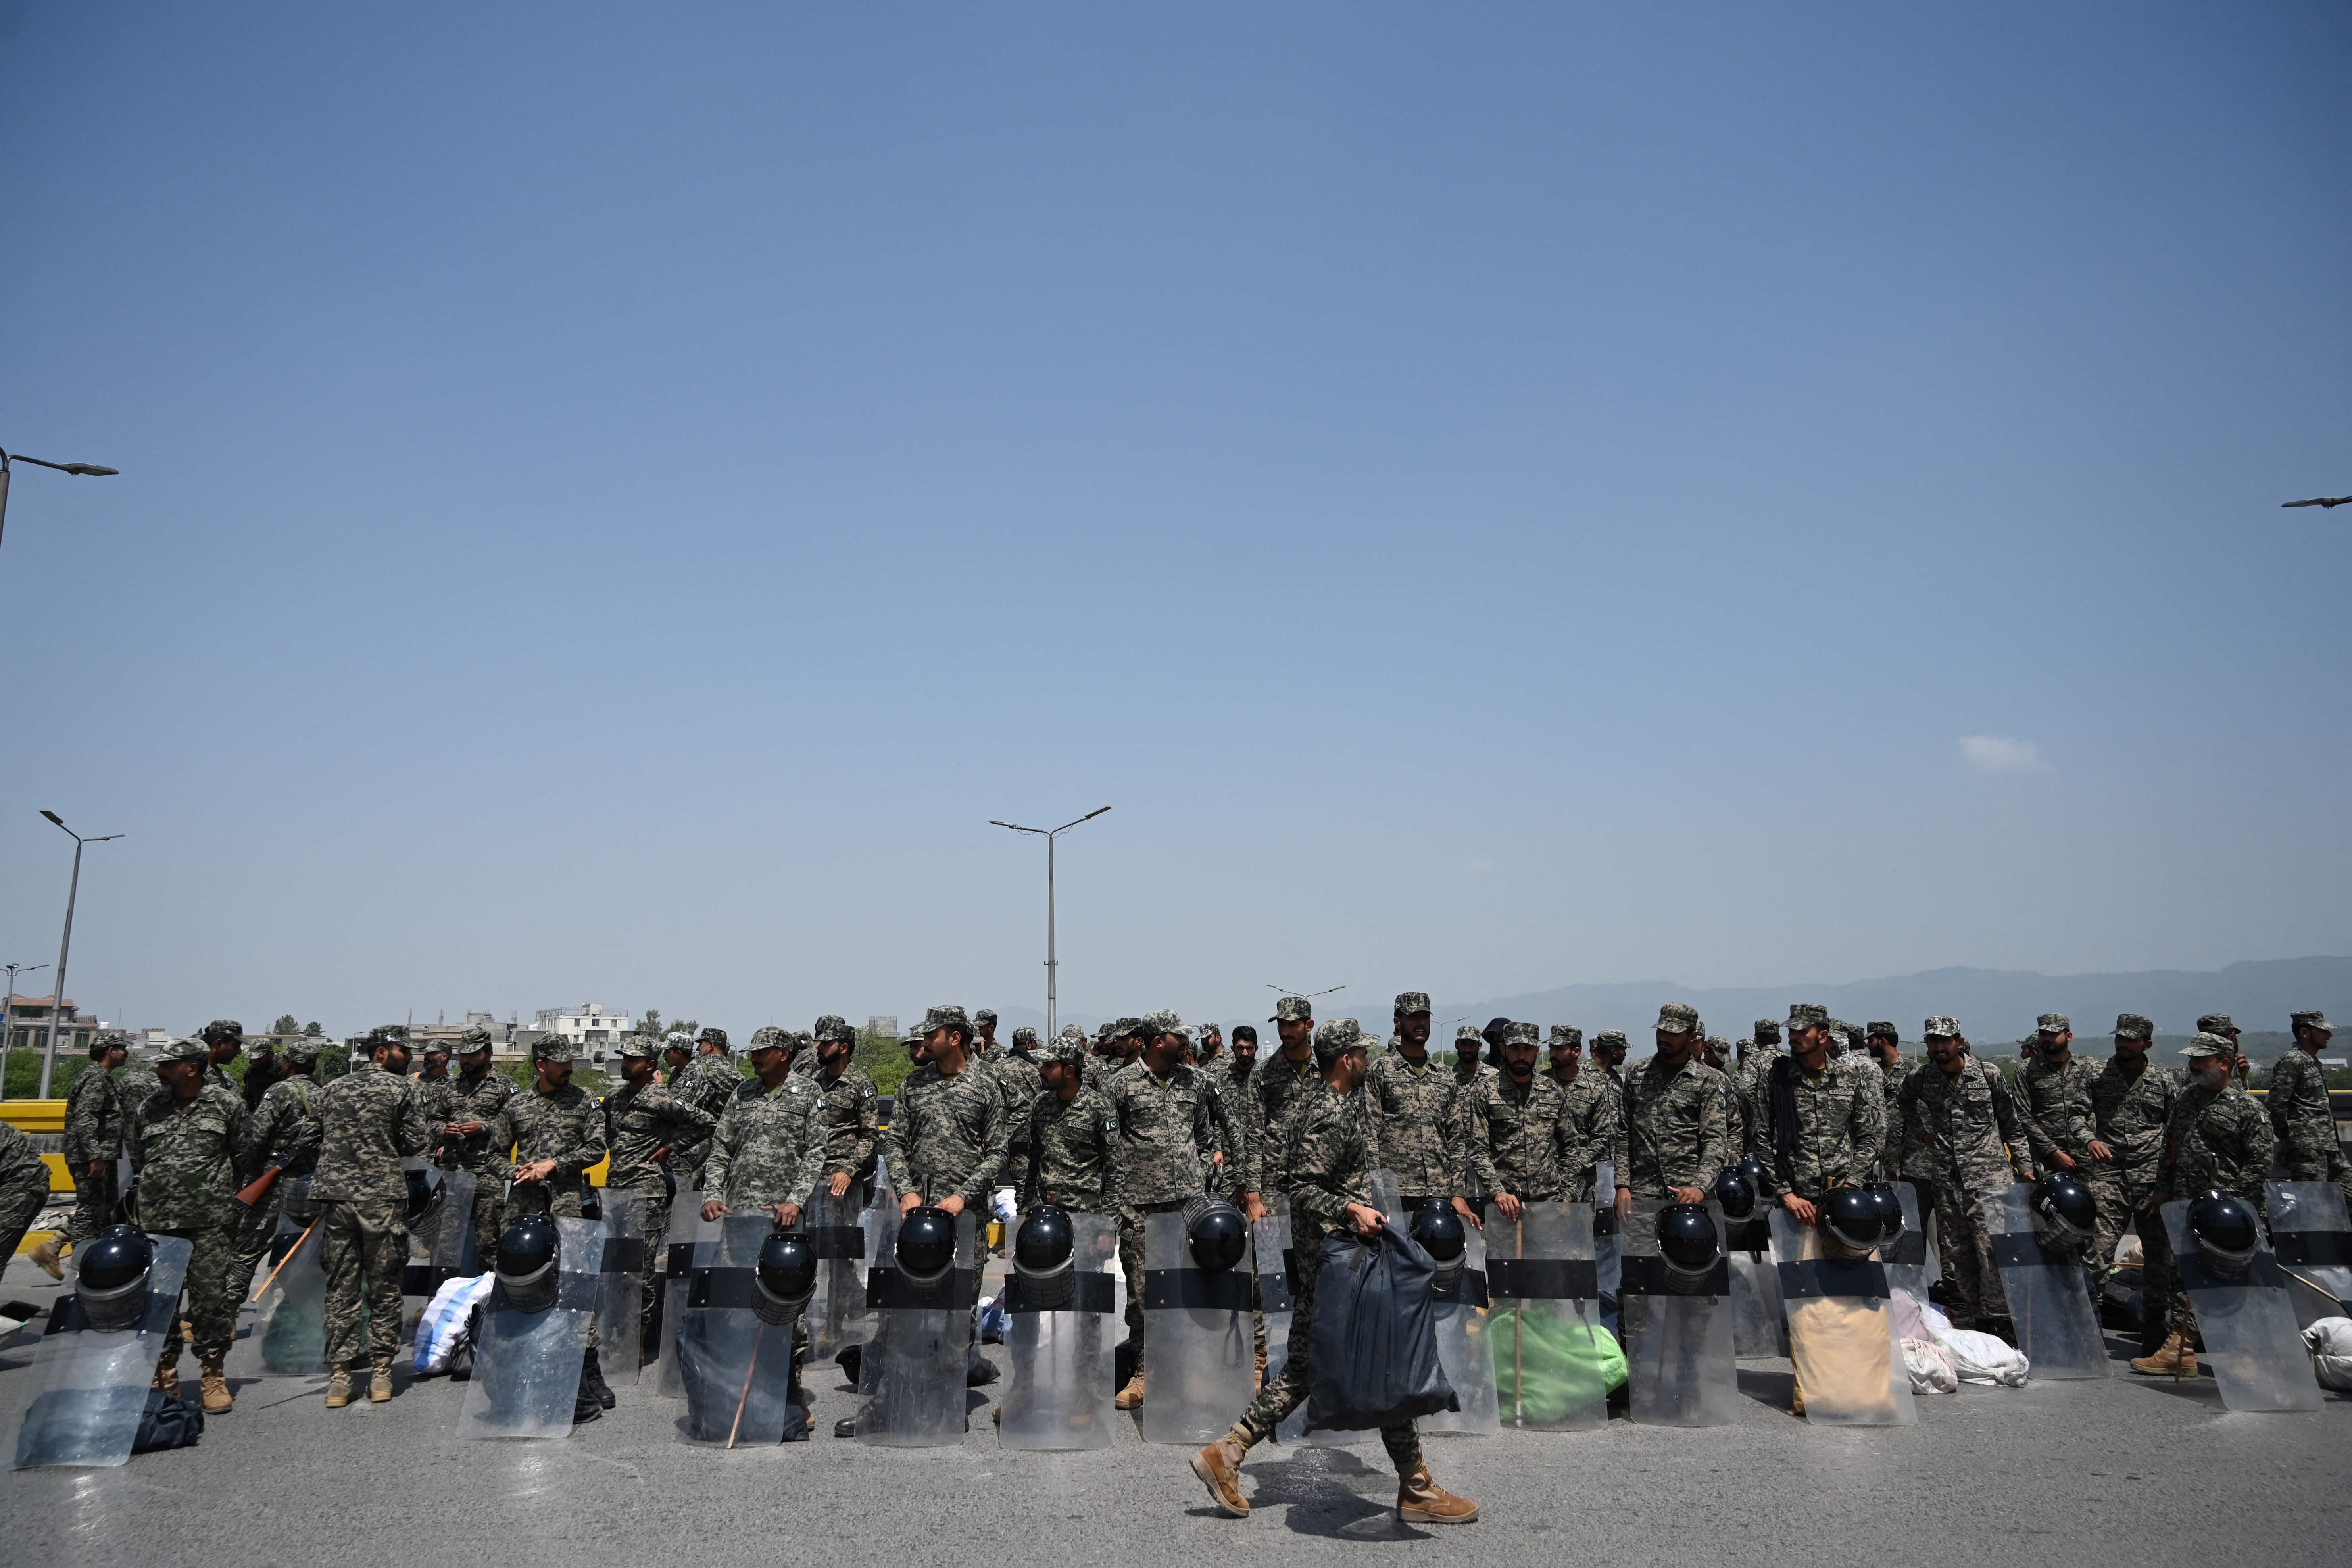
M 1261 1220 L 1263 1225 L 1263 1220 Z M 1284 1234 L 1289 1220 L 1282 1220 Z M 1256 1253 L 1256 1244 L 1249 1248 Z M 1279 1269 L 1279 1255 L 1275 1260 Z M 1258 1356 L 1249 1333 L 1251 1260 L 1204 1269 L 1178 1211 L 1143 1215 L 1143 1335 L 1148 1394 L 1136 1415 L 1145 1443 L 1200 1446 L 1249 1408 Z M 1284 1291 L 1284 1307 L 1289 1291 Z M 1289 1316 L 1282 1319 L 1284 1342 Z M 1265 1302 L 1265 1375 L 1275 1375 L 1275 1309 Z

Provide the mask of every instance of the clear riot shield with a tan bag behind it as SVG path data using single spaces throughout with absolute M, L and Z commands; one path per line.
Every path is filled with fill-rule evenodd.
M 1910 1373 L 1886 1305 L 1886 1267 L 1832 1258 L 1820 1229 L 1771 1211 L 1771 1253 L 1788 1309 L 1788 1352 L 1804 1418 L 1823 1427 L 1910 1427 Z

